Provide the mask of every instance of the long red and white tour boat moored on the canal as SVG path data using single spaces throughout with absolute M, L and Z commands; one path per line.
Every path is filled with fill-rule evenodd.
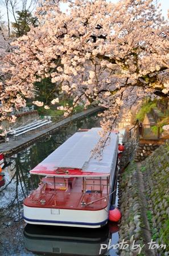
M 117 174 L 118 131 L 109 134 L 98 158 L 91 151 L 100 141 L 99 131 L 75 133 L 30 171 L 43 177 L 38 189 L 24 199 L 24 221 L 90 228 L 106 225 Z

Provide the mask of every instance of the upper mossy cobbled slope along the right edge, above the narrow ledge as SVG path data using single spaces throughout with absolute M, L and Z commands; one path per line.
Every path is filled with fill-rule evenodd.
M 143 163 L 141 170 L 145 182 L 147 214 L 152 238 L 166 244 L 159 255 L 169 255 L 169 143 L 160 146 Z

